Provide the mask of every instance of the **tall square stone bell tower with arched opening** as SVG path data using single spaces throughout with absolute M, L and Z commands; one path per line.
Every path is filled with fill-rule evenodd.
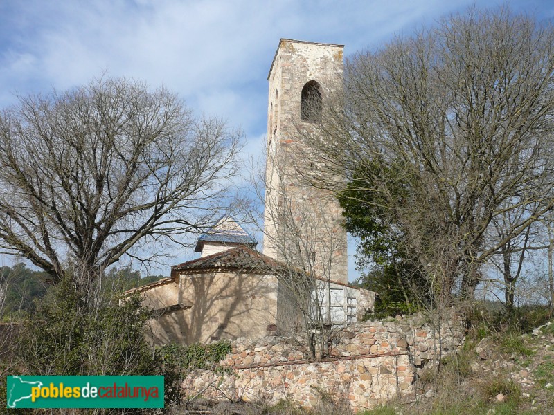
M 321 174 L 323 163 L 303 143 L 306 133 L 318 136 L 325 98 L 342 87 L 343 46 L 280 39 L 268 80 L 264 253 L 348 282 L 341 208 L 325 190 L 343 178 Z

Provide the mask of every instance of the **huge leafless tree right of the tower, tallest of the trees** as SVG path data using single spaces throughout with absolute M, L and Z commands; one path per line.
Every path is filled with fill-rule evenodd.
M 441 306 L 472 298 L 479 268 L 553 208 L 553 68 L 552 26 L 471 9 L 352 57 L 321 134 L 302 134 L 325 169 L 373 194 Z M 495 218 L 539 202 L 486 238 Z

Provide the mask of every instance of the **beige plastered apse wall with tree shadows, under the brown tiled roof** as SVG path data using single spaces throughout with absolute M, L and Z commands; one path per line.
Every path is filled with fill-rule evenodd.
M 178 301 L 193 306 L 150 321 L 157 345 L 257 339 L 276 328 L 277 279 L 273 275 L 183 273 Z

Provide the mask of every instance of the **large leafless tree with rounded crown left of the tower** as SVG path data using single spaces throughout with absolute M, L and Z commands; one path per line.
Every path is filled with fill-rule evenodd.
M 179 243 L 211 221 L 240 136 L 133 80 L 20 97 L 0 116 L 0 246 L 57 283 L 68 261 L 87 280 Z

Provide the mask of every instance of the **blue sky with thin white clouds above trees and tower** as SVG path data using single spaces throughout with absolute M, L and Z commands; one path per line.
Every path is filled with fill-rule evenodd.
M 281 37 L 345 45 L 345 55 L 409 35 L 441 16 L 499 1 L 0 1 L 0 107 L 102 75 L 176 91 L 197 113 L 226 118 L 262 153 L 267 72 Z M 554 1 L 512 10 L 554 17 Z M 350 253 L 353 253 L 350 252 Z

